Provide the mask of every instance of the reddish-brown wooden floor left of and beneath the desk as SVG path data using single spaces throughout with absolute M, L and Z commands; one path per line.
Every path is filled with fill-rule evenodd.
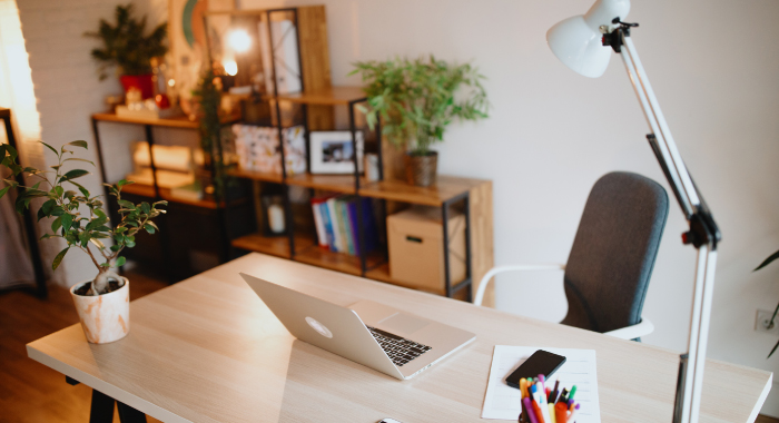
M 130 299 L 168 286 L 155 275 L 126 272 Z M 27 357 L 24 345 L 78 323 L 70 293 L 49 285 L 46 301 L 21 292 L 0 293 L 0 422 L 88 422 L 91 388 L 71 386 L 65 376 Z M 158 422 L 148 417 L 149 422 Z M 115 409 L 114 422 L 119 422 Z

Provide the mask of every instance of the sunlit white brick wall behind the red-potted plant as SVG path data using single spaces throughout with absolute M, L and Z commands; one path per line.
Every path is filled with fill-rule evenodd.
M 115 0 L 18 0 L 21 29 L 29 53 L 34 96 L 40 112 L 41 138 L 59 146 L 85 139 L 90 144 L 88 159 L 97 163 L 89 116 L 106 109 L 107 95 L 121 92 L 117 78 L 99 81 L 89 51 L 97 40 L 85 38 L 85 31 L 95 30 L 100 18 L 112 20 L 114 10 L 124 1 Z M 149 28 L 167 19 L 167 0 L 132 1 L 136 11 L 148 14 Z M 102 126 L 101 139 L 125 141 L 142 138 L 141 128 L 130 126 Z M 107 148 L 117 156 L 127 154 L 119 147 Z M 108 151 L 103 151 L 106 154 Z M 52 157 L 46 157 L 52 160 Z M 117 159 L 126 159 L 117 157 Z M 99 169 L 83 178 L 83 185 L 92 193 L 101 193 Z M 63 247 L 57 240 L 41 243 L 45 263 Z M 81 252 L 70 252 L 53 278 L 65 285 L 73 285 L 95 276 L 95 266 Z

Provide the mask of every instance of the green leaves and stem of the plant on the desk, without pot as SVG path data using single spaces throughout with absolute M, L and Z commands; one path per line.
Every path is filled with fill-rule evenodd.
M 18 163 L 18 153 L 10 145 L 0 145 L 0 166 L 9 168 L 12 177 L 4 179 L 6 187 L 0 189 L 0 198 L 10 189 L 21 188 L 21 193 L 16 200 L 16 209 L 19 214 L 30 207 L 30 201 L 36 198 L 43 198 L 46 201 L 38 209 L 38 220 L 45 217 L 53 217 L 51 222 L 51 234 L 46 234 L 41 239 L 62 238 L 67 247 L 59 252 L 51 265 L 57 269 L 62 263 L 65 255 L 71 249 L 80 249 L 92 259 L 97 267 L 98 275 L 91 283 L 91 295 L 105 294 L 109 289 L 110 278 L 118 279 L 111 268 L 125 264 L 125 257 L 120 256 L 125 248 L 136 246 L 136 234 L 146 230 L 149 234 L 158 232 L 159 228 L 151 222 L 155 217 L 166 213 L 159 207 L 166 206 L 167 201 L 148 204 L 132 204 L 121 199 L 121 187 L 132 184 L 132 181 L 120 180 L 115 185 L 103 184 L 108 187 L 109 194 L 116 197 L 119 205 L 119 216 L 121 222 L 110 228 L 108 215 L 103 212 L 103 201 L 100 196 L 92 196 L 81 184 L 75 179 L 89 175 L 85 169 L 71 169 L 65 171 L 63 166 L 70 161 L 93 163 L 75 156 L 75 148 L 87 149 L 87 141 L 68 142 L 57 151 L 46 142 L 41 142 L 47 149 L 57 156 L 57 165 L 50 166 L 50 170 L 38 170 L 32 167 L 22 167 Z M 19 185 L 16 180 L 18 175 L 27 175 L 28 179 L 38 179 L 32 186 Z M 68 188 L 76 188 L 72 190 Z M 114 245 L 107 246 L 103 239 L 112 239 Z M 99 255 L 90 249 L 90 244 L 97 247 Z M 100 263 L 102 262 L 102 263 Z

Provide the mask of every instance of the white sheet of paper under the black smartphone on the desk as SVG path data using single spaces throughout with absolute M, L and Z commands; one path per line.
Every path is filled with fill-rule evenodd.
M 520 390 L 506 385 L 505 378 L 520 364 L 524 363 L 538 350 L 564 356 L 563 364 L 549 378 L 548 385 L 560 380 L 560 390 L 576 385 L 574 401 L 581 403 L 576 423 L 600 423 L 601 409 L 598 401 L 598 372 L 594 350 L 543 348 L 534 346 L 495 345 L 490 367 L 490 381 L 484 397 L 482 419 L 516 421 L 522 412 Z

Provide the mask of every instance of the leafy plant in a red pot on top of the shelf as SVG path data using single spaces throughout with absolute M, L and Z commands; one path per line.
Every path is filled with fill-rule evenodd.
M 116 66 L 125 91 L 135 87 L 144 99 L 154 97 L 151 82 L 151 59 L 165 56 L 167 23 L 162 22 L 146 32 L 146 16 L 140 20 L 132 17 L 134 6 L 119 4 L 116 8 L 116 24 L 100 19 L 98 30 L 85 32 L 85 37 L 102 41 L 101 48 L 92 49 L 92 58 L 98 62 L 100 80 L 108 78 L 108 69 Z

